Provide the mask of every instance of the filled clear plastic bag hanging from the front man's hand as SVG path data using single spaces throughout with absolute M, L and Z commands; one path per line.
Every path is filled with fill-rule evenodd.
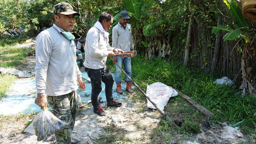
M 67 128 L 69 123 L 65 123 L 57 118 L 48 110 L 43 110 L 36 115 L 33 122 L 29 125 L 35 130 L 37 140 L 47 140 L 55 132 Z

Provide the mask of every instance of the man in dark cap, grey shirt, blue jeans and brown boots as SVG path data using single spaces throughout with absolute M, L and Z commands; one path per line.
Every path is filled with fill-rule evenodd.
M 123 51 L 134 51 L 134 45 L 132 42 L 132 27 L 129 25 L 128 19 L 129 14 L 127 11 L 121 11 L 120 16 L 118 17 L 120 21 L 117 25 L 113 27 L 112 30 L 112 47 L 122 49 Z M 132 67 L 131 67 L 131 57 L 117 57 L 117 64 L 119 66 L 122 66 L 122 63 L 124 64 L 125 72 L 129 77 L 132 75 Z M 114 62 L 114 61 L 113 61 Z M 115 63 L 115 62 L 114 62 Z M 115 82 L 117 83 L 117 92 L 122 94 L 122 88 L 121 88 L 121 70 L 119 67 L 115 65 Z M 133 92 L 131 88 L 132 82 L 128 79 L 128 77 L 125 76 L 126 81 L 126 91 Z

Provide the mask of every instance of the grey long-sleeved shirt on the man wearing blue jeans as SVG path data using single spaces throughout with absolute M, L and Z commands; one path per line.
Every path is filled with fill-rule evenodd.
M 132 27 L 129 23 L 122 27 L 120 22 L 112 29 L 112 47 L 122 49 L 124 52 L 134 49 L 132 42 Z

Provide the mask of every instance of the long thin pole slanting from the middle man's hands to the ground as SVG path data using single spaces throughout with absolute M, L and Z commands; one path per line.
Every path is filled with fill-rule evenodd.
M 141 93 L 146 96 L 146 98 L 153 104 L 153 106 L 157 109 L 158 112 L 160 112 L 160 114 L 162 114 L 164 116 L 164 118 L 166 118 L 168 121 L 170 121 L 171 123 L 173 123 L 175 126 L 177 126 L 169 117 L 168 115 L 163 111 L 161 110 L 161 108 L 159 108 L 151 99 L 149 96 L 146 95 L 145 92 L 143 92 L 139 86 L 134 82 L 132 81 L 132 79 L 125 73 L 125 71 L 117 64 L 115 63 L 115 65 L 117 65 L 119 67 L 119 69 L 121 69 L 121 71 L 126 75 L 126 77 L 128 77 L 128 79 L 132 82 L 132 84 L 134 84 L 136 86 L 136 88 L 139 89 L 139 91 L 141 91 Z

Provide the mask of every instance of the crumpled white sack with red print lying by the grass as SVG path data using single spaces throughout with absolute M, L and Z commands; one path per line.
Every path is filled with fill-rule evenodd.
M 166 106 L 170 97 L 177 96 L 178 92 L 171 86 L 167 86 L 161 82 L 155 82 L 151 85 L 147 85 L 146 94 L 161 110 L 164 110 L 164 106 Z M 149 100 L 147 100 L 147 107 L 155 109 Z

